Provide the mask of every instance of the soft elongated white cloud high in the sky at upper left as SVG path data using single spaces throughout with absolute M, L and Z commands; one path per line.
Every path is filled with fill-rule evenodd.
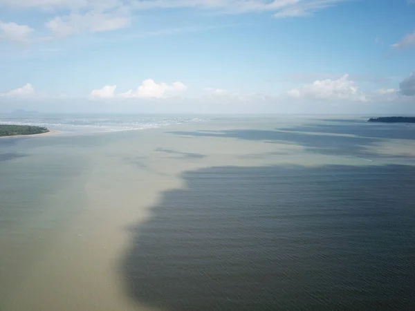
M 103 32 L 129 26 L 127 15 L 116 13 L 88 12 L 85 15 L 72 14 L 66 17 L 55 17 L 46 23 L 46 27 L 59 37 L 75 35 L 82 32 Z

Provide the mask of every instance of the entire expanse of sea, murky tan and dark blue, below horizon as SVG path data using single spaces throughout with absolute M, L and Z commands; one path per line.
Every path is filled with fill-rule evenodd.
M 414 310 L 415 126 L 0 117 L 0 310 Z

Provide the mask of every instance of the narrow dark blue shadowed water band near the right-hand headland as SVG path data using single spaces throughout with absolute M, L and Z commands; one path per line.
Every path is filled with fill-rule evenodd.
M 271 143 L 299 144 L 313 153 L 331 156 L 380 155 L 367 150 L 384 140 L 415 140 L 414 124 L 376 124 L 361 120 L 309 121 L 309 124 L 278 127 L 275 129 L 230 129 L 222 131 L 174 131 L 173 134 L 216 138 L 237 138 L 239 140 L 261 140 Z

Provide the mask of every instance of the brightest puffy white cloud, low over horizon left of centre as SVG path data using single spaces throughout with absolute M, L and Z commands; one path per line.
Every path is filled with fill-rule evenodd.
M 145 79 L 136 91 L 129 90 L 125 93 L 120 94 L 121 97 L 154 97 L 161 98 L 165 97 L 167 93 L 179 93 L 187 89 L 187 86 L 181 82 L 174 82 L 173 84 L 160 84 L 154 82 L 153 79 Z

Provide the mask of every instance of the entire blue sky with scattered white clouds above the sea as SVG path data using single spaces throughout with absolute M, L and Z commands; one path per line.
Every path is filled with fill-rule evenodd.
M 0 113 L 415 115 L 415 0 L 0 0 Z

